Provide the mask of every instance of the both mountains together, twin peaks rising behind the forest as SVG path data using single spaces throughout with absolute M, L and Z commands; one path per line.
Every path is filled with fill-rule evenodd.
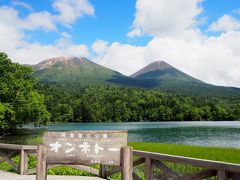
M 239 88 L 207 84 L 164 61 L 153 62 L 129 77 L 84 57 L 55 57 L 33 65 L 32 68 L 33 76 L 40 83 L 61 85 L 67 88 L 111 84 L 203 96 L 240 95 Z

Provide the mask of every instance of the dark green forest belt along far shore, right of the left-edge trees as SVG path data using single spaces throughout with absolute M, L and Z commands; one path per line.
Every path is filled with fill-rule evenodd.
M 221 121 L 240 119 L 240 97 L 204 97 L 159 90 L 40 85 L 53 122 Z

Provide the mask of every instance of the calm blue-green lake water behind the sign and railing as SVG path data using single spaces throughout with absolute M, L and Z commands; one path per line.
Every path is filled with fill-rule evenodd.
M 4 143 L 41 143 L 44 131 L 128 130 L 129 141 L 240 148 L 240 121 L 221 122 L 134 122 L 63 123 L 34 128 L 24 126 L 17 135 L 0 139 Z

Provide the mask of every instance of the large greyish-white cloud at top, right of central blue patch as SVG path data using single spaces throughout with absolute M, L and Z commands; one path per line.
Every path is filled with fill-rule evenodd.
M 137 0 L 129 37 L 179 35 L 197 24 L 202 0 Z

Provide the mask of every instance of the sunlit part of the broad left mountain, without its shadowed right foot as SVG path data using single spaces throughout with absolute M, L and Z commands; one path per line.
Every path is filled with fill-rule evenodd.
M 103 84 L 114 75 L 123 76 L 83 57 L 55 57 L 33 65 L 32 68 L 39 82 L 76 87 Z

